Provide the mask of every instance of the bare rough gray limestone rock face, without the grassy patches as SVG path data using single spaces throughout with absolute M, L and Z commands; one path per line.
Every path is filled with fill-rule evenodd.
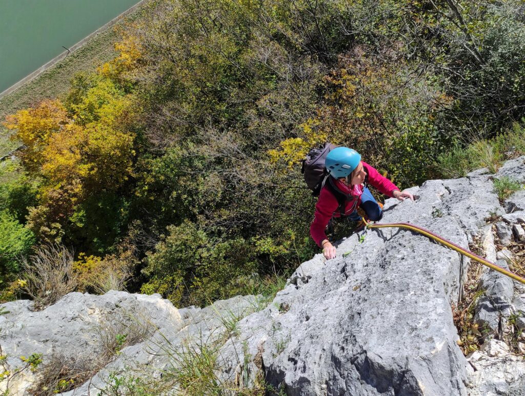
M 524 159 L 509 161 L 498 175 L 525 179 Z M 504 215 L 498 232 L 507 232 L 525 211 L 506 215 L 486 172 L 429 180 L 411 189 L 414 202 L 388 199 L 381 222 L 414 223 L 467 249 L 473 236 L 491 233 L 485 219 L 494 214 Z M 521 198 L 510 199 L 514 208 L 525 207 Z M 246 296 L 177 310 L 159 295 L 111 292 L 71 293 L 37 313 L 29 311 L 28 302 L 4 304 L 11 313 L 0 320 L 11 330 L 2 335 L 2 348 L 13 364 L 19 363 L 18 355 L 90 348 L 96 339 L 88 323 L 97 322 L 102 309 L 117 312 L 125 306 L 151 322 L 148 336 L 62 395 L 97 394 L 115 375 L 133 377 L 135 372 L 149 372 L 160 381 L 163 370 L 174 365 L 173 355 L 208 342 L 216 347 L 217 381 L 229 384 L 228 389 L 248 389 L 263 378 L 268 393 L 288 395 L 523 394 L 523 376 L 512 374 L 512 368 L 525 372 L 521 358 L 505 366 L 501 359 L 510 352 L 490 352 L 496 347 L 487 344 L 492 346 L 469 362 L 456 343 L 450 304 L 461 296 L 469 259 L 408 230 L 371 229 L 364 241 L 360 237 L 340 241 L 333 260 L 317 254 L 301 264 L 271 302 Z M 486 243 L 487 254 L 496 260 L 493 240 Z M 479 306 L 478 319 L 493 326 L 500 325 L 500 312 L 508 317 L 525 306 L 525 290 L 501 276 L 486 272 L 482 277 L 490 292 L 486 310 L 498 315 L 481 317 Z M 519 319 L 515 315 L 516 323 Z M 24 384 L 18 389 L 23 394 Z

